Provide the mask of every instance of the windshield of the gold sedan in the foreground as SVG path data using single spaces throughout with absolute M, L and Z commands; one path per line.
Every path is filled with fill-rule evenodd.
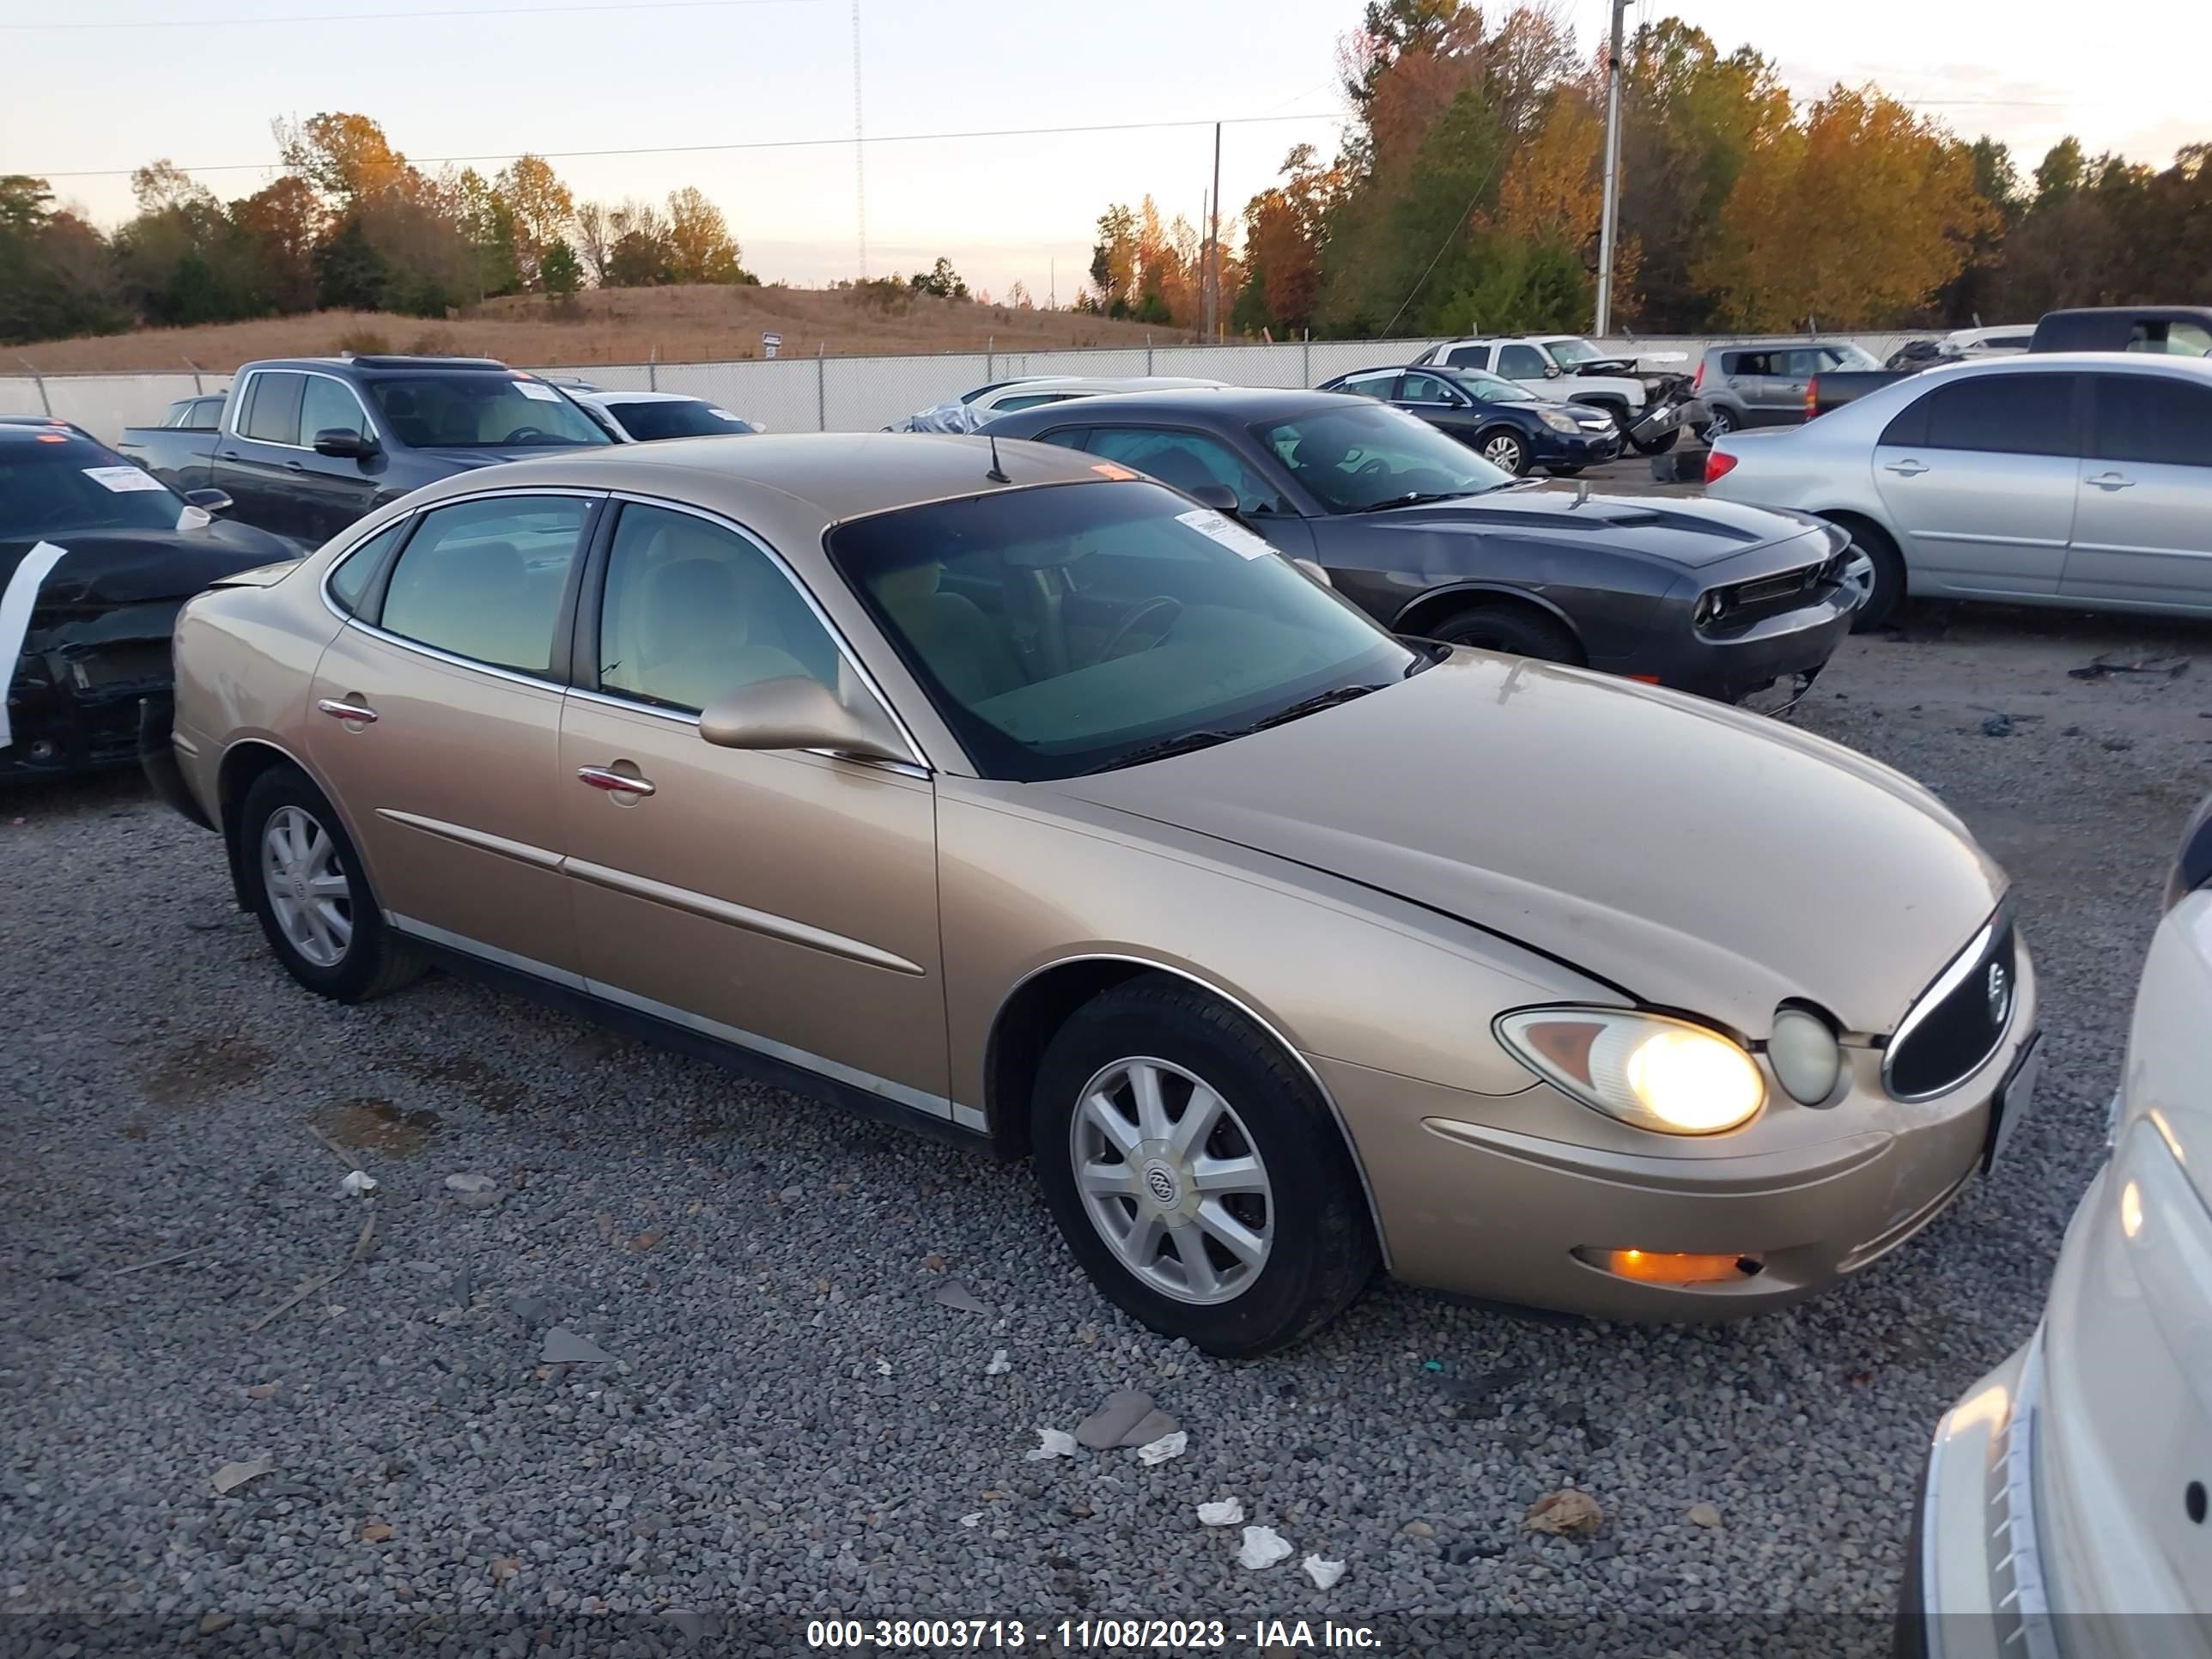
M 987 776 L 1234 737 L 1427 659 L 1148 480 L 1006 489 L 832 531 L 830 560 Z

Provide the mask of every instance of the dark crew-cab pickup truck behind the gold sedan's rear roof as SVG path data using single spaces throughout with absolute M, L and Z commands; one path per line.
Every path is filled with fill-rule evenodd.
M 221 420 L 126 427 L 117 449 L 177 491 L 307 551 L 372 507 L 471 467 L 613 442 L 564 392 L 491 358 L 272 358 L 239 369 Z

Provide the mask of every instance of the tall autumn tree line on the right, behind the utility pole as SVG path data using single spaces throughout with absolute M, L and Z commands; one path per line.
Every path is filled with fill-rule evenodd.
M 1542 4 L 1369 0 L 1340 66 L 1338 153 L 1294 148 L 1245 204 L 1228 330 L 1588 327 L 1604 55 Z M 1679 18 L 1626 44 L 1619 155 L 1613 314 L 1646 334 L 1960 327 L 2212 288 L 2212 146 L 2152 168 L 2068 137 L 2024 175 L 1878 86 L 1798 104 L 1774 62 Z M 1201 265 L 1150 197 L 1110 206 L 1077 303 L 1194 327 Z

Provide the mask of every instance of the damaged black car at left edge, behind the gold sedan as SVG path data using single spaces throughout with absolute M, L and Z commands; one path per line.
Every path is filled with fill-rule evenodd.
M 0 776 L 137 763 L 139 699 L 170 695 L 170 630 L 201 588 L 292 549 L 217 518 L 77 429 L 0 425 Z

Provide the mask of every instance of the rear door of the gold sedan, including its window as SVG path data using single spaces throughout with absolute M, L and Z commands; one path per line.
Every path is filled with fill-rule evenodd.
M 580 984 L 562 874 L 568 617 L 604 498 L 529 489 L 442 502 L 332 571 L 347 617 L 314 672 L 307 757 L 392 922 Z M 361 557 L 387 566 L 352 582 Z M 568 785 L 573 787 L 573 785 Z

